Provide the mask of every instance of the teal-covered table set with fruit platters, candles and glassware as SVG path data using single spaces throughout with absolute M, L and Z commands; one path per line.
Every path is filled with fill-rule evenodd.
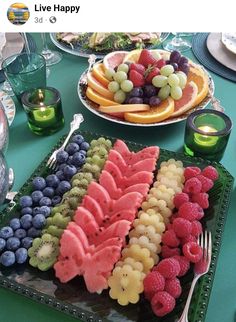
M 219 39 L 235 55 L 234 34 L 180 52 L 168 33 L 119 34 L 113 51 L 85 34 L 31 34 L 37 49 L 2 60 L 4 320 L 230 321 L 234 67 L 207 57 Z

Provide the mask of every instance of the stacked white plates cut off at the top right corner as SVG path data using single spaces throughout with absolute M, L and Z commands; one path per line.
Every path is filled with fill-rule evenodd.
M 219 63 L 236 71 L 236 32 L 210 33 L 206 45 Z

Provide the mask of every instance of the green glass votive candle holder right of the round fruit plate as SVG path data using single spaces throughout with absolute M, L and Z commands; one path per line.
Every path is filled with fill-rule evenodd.
M 224 113 L 210 109 L 195 111 L 186 121 L 184 152 L 190 156 L 220 161 L 231 129 L 232 121 Z

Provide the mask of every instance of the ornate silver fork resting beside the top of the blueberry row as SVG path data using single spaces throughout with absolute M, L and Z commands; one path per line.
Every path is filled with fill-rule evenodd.
M 55 169 L 56 168 L 56 155 L 59 151 L 62 151 L 65 149 L 71 135 L 74 133 L 74 131 L 78 130 L 80 127 L 80 124 L 83 122 L 84 118 L 82 114 L 74 114 L 73 121 L 70 123 L 70 132 L 68 133 L 67 137 L 65 138 L 65 141 L 61 145 L 61 147 L 53 152 L 53 154 L 48 159 L 48 162 L 46 166 L 49 169 Z

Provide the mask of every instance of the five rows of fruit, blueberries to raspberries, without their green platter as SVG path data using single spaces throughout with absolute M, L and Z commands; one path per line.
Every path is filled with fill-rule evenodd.
M 154 178 L 158 157 L 158 147 L 134 153 L 121 140 L 75 135 L 56 173 L 33 179 L 20 218 L 0 230 L 0 263 L 29 256 L 40 270 L 54 266 L 62 283 L 82 275 L 91 293 L 110 288 L 128 305 L 144 292 L 157 316 L 171 312 L 179 277 L 201 260 L 200 219 L 218 173 L 170 159 Z

